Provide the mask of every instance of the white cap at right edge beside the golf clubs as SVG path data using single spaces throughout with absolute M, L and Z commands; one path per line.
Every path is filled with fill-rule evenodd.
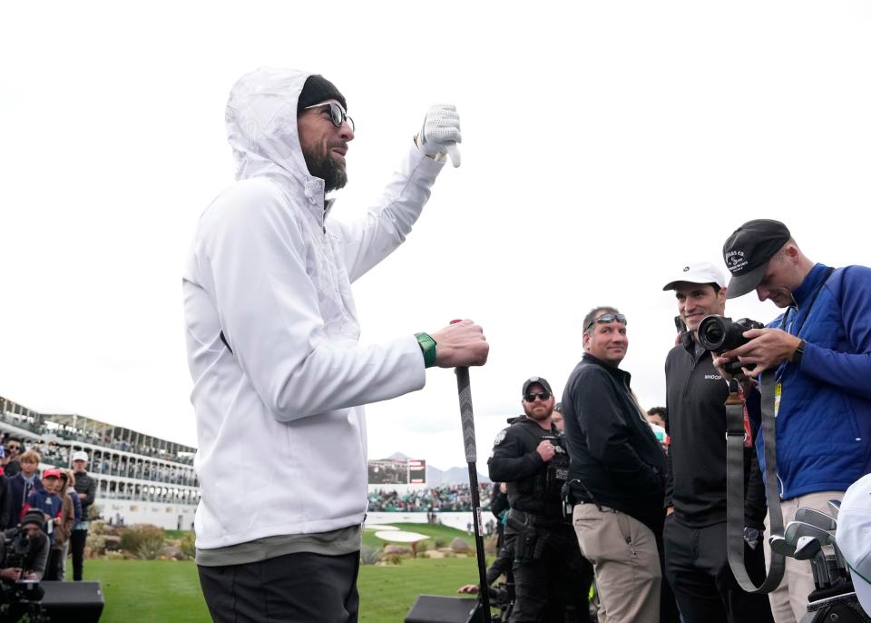
M 871 474 L 856 480 L 844 494 L 835 541 L 847 560 L 859 604 L 871 612 Z

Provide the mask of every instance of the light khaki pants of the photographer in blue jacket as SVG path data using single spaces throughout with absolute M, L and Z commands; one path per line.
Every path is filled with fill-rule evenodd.
M 784 499 L 780 502 L 780 510 L 783 512 L 783 525 L 796 519 L 796 510 L 801 506 L 830 513 L 828 508 L 829 499 L 841 499 L 844 491 L 817 491 L 808 493 L 793 499 Z M 765 560 L 768 564 L 771 560 L 771 548 L 768 547 L 768 537 L 771 532 L 768 529 L 769 518 L 765 518 Z M 829 550 L 831 548 L 826 548 Z M 828 551 L 827 553 L 832 553 Z M 780 586 L 768 594 L 771 602 L 771 612 L 774 614 L 775 623 L 797 623 L 807 612 L 807 596 L 814 590 L 814 576 L 807 560 L 796 560 L 787 557 L 787 570 L 783 574 Z

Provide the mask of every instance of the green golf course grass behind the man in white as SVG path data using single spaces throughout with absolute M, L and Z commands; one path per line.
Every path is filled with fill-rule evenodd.
M 450 543 L 459 536 L 474 547 L 472 538 L 444 526 L 403 526 Z M 380 546 L 371 533 L 364 543 Z M 72 573 L 72 569 L 68 569 Z M 103 583 L 106 607 L 101 623 L 208 623 L 211 619 L 200 590 L 196 565 L 174 560 L 86 560 L 84 578 Z M 360 568 L 360 620 L 367 623 L 402 621 L 418 595 L 454 595 L 456 588 L 475 582 L 475 558 L 404 559 L 389 567 Z

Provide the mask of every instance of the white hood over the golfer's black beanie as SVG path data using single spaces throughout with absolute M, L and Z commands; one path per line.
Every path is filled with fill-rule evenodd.
M 307 194 L 319 188 L 323 195 L 323 180 L 308 173 L 299 146 L 297 106 L 309 75 L 260 67 L 233 84 L 225 120 L 237 180 L 267 175 L 301 183 Z

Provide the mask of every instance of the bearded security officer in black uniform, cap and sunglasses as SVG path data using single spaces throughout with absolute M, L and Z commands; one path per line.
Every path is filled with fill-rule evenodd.
M 541 377 L 524 382 L 525 417 L 517 418 L 494 441 L 487 464 L 490 480 L 507 483 L 511 507 L 506 547 L 514 547 L 514 610 L 509 621 L 587 621 L 592 578 L 583 578 L 584 560 L 572 527 L 563 519 L 561 491 L 569 458 L 553 425 L 553 391 Z

